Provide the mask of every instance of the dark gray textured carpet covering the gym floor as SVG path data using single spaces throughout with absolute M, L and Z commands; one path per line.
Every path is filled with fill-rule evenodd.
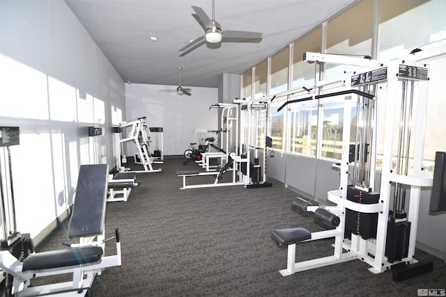
M 295 193 L 279 184 L 180 190 L 176 171 L 197 169 L 182 161 L 168 159 L 154 165 L 161 173 L 138 174 L 142 183 L 128 202 L 107 204 L 107 236 L 119 228 L 123 263 L 98 276 L 93 296 L 417 296 L 417 289 L 446 288 L 446 263 L 421 250 L 416 258 L 433 261 L 434 270 L 402 282 L 390 272 L 374 275 L 360 260 L 284 278 L 286 249 L 275 246 L 271 230 L 322 229 L 291 210 Z M 64 233 L 55 232 L 40 250 L 61 248 Z M 302 243 L 296 258 L 330 255 L 332 242 Z

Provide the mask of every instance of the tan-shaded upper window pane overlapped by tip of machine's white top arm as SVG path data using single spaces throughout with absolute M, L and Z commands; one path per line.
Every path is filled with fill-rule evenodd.
M 321 26 L 307 33 L 293 43 L 293 66 L 291 88 L 314 85 L 314 78 L 318 74 L 319 66 L 309 64 L 303 60 L 305 51 L 318 53 L 321 51 Z

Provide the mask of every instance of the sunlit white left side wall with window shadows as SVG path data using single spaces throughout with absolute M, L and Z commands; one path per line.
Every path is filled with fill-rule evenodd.
M 17 230 L 34 237 L 72 204 L 80 165 L 114 165 L 124 82 L 64 1 L 0 0 L 0 102 L 0 125 L 20 127 Z

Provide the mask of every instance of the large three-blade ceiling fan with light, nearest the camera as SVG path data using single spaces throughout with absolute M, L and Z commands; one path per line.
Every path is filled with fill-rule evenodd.
M 219 47 L 220 42 L 260 42 L 262 33 L 250 32 L 250 31 L 233 31 L 223 30 L 222 26 L 215 21 L 215 0 L 212 1 L 212 19 L 206 15 L 203 8 L 198 6 L 192 6 L 196 15 L 193 15 L 199 22 L 204 30 L 204 35 L 192 40 L 185 47 L 182 47 L 180 51 L 183 51 L 180 56 L 189 54 L 194 49 L 201 47 L 201 45 L 208 42 L 209 47 Z

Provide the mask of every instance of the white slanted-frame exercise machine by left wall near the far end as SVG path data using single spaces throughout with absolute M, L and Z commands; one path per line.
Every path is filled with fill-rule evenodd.
M 149 152 L 149 146 L 151 143 L 151 132 L 148 129 L 148 125 L 144 120 L 146 117 L 138 118 L 137 120 L 123 121 L 119 124 L 119 127 L 114 128 L 115 132 L 115 156 L 116 156 L 116 170 L 128 171 L 128 172 L 161 172 L 161 168 L 154 169 L 152 164 L 154 163 L 154 156 L 151 156 Z M 128 137 L 123 138 L 123 129 L 130 127 Z M 127 162 L 127 157 L 122 154 L 123 143 L 134 143 L 134 163 L 140 164 L 144 167 L 144 170 L 130 170 L 130 168 L 124 168 L 122 163 Z M 160 154 L 161 155 L 161 154 Z M 159 159 L 159 157 L 156 157 Z

